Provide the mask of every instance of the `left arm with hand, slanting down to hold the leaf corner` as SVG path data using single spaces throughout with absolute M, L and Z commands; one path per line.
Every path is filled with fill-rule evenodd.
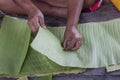
M 44 16 L 42 12 L 31 2 L 31 0 L 13 0 L 19 7 L 24 9 L 28 15 L 28 24 L 33 32 L 39 27 L 45 27 Z

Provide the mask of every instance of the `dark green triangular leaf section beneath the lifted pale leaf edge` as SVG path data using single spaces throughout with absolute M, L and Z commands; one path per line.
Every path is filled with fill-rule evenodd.
M 29 48 L 23 68 L 20 71 L 20 76 L 44 76 L 60 73 L 81 73 L 84 71 L 85 69 L 82 68 L 62 67 L 43 54 Z

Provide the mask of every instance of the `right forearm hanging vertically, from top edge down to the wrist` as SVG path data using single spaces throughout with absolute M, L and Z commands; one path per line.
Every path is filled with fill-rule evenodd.
M 67 28 L 76 27 L 83 8 L 84 0 L 68 0 Z

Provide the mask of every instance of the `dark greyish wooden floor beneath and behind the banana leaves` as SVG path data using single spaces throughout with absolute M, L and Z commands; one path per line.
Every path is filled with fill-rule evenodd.
M 106 3 L 100 9 L 91 13 L 82 13 L 79 23 L 99 22 L 120 18 L 120 12 L 110 4 Z M 51 26 L 65 25 L 66 21 L 59 18 L 46 17 L 46 23 Z M 0 78 L 0 80 L 16 80 Z M 30 80 L 33 80 L 30 78 Z M 53 76 L 53 80 L 120 80 L 120 71 L 107 73 L 105 68 L 88 69 L 82 74 L 60 74 Z

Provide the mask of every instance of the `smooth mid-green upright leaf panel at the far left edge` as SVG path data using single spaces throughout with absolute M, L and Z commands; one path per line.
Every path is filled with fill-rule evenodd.
M 30 33 L 27 21 L 4 18 L 0 29 L 0 75 L 19 74 L 28 51 Z

